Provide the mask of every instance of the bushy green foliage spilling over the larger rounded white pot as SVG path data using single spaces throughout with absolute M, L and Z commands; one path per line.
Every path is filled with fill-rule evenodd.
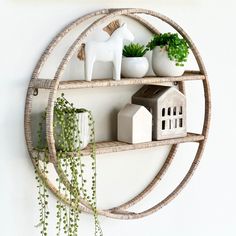
M 177 66 L 183 66 L 187 61 L 189 46 L 185 39 L 179 38 L 178 34 L 164 33 L 154 35 L 152 40 L 147 44 L 149 50 L 156 46 L 164 48 L 171 61 L 175 61 Z

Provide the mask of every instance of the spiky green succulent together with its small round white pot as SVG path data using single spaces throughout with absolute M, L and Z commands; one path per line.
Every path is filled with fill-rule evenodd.
M 149 64 L 144 54 L 148 49 L 139 43 L 130 43 L 123 48 L 121 74 L 126 78 L 142 78 L 146 75 Z

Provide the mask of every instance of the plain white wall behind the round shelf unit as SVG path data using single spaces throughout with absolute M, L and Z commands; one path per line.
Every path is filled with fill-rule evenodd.
M 117 3 L 105 0 L 68 0 L 60 3 L 0 1 L 0 235 L 39 235 L 38 229 L 34 228 L 38 217 L 34 171 L 26 150 L 23 129 L 24 102 L 31 72 L 42 51 L 63 26 L 87 12 L 108 7 L 149 8 L 178 22 L 198 46 L 208 69 L 213 110 L 210 136 L 203 159 L 184 191 L 158 213 L 140 220 L 101 218 L 104 235 L 236 235 L 236 32 L 233 25 L 236 21 L 236 4 L 230 0 L 122 0 Z M 133 25 L 131 22 L 130 27 Z M 76 69 L 73 68 L 67 75 L 74 75 Z M 188 123 L 190 128 L 197 130 L 201 126 L 201 112 L 197 113 L 196 108 L 201 110 L 202 101 L 193 85 L 188 84 L 188 89 Z M 81 100 L 78 103 L 90 107 L 97 114 L 98 122 L 101 122 L 107 119 L 106 114 L 112 109 L 119 109 L 126 103 L 134 91 L 132 88 L 105 89 L 88 94 L 88 90 L 87 94 L 80 92 Z M 67 92 L 68 97 L 76 100 L 77 92 Z M 119 99 L 120 93 L 123 95 L 122 100 Z M 41 93 L 41 98 L 44 95 L 46 93 Z M 89 97 L 86 98 L 86 95 Z M 112 99 L 104 106 L 102 102 L 106 101 L 107 95 Z M 98 108 L 95 103 L 97 98 L 99 105 L 106 107 L 104 117 L 98 115 L 101 107 Z M 35 106 L 42 109 L 44 103 L 38 100 Z M 112 126 L 112 123 L 109 125 Z M 108 128 L 105 125 L 104 133 L 98 131 L 99 138 L 114 135 L 109 133 Z M 180 148 L 163 182 L 135 210 L 152 206 L 176 186 L 192 161 L 192 147 L 195 150 L 195 146 L 191 145 Z M 140 191 L 158 170 L 166 151 L 166 148 L 161 148 L 98 157 L 99 205 L 113 206 Z M 53 196 L 51 199 L 49 235 L 55 235 L 55 199 Z M 91 227 L 91 217 L 83 216 L 81 235 L 92 235 Z

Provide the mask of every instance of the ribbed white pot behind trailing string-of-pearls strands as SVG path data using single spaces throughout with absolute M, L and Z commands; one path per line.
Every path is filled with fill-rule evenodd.
M 77 113 L 76 116 L 77 116 L 77 120 L 78 120 L 77 127 L 80 132 L 79 139 L 80 139 L 81 143 L 79 143 L 79 139 L 77 141 L 74 140 L 73 141 L 74 142 L 73 143 L 73 150 L 70 150 L 70 151 L 77 150 L 79 147 L 80 147 L 80 149 L 83 149 L 89 144 L 89 141 L 90 141 L 88 112 Z M 56 119 L 56 116 L 54 116 L 54 117 L 55 117 L 54 119 Z M 65 119 L 66 119 L 66 116 L 65 116 Z M 75 130 L 73 135 L 78 135 L 78 130 Z M 55 138 L 55 145 L 56 145 L 57 150 L 64 150 L 65 149 L 59 143 L 59 140 L 61 139 L 60 138 L 61 133 L 62 133 L 62 127 L 60 126 L 60 124 L 57 124 L 56 127 L 54 128 L 54 138 Z M 64 145 L 66 146 L 66 148 L 68 148 L 68 146 L 69 146 L 69 144 L 67 142 L 65 142 Z

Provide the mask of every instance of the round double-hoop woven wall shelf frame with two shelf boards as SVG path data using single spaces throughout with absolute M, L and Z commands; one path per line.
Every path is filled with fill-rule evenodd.
M 91 82 L 87 81 L 81 81 L 81 80 L 74 80 L 74 81 L 61 81 L 63 72 L 71 60 L 72 56 L 79 50 L 82 43 L 85 42 L 87 36 L 95 30 L 98 26 L 101 24 L 114 20 L 115 18 L 119 16 L 127 16 L 130 17 L 140 24 L 144 25 L 147 29 L 149 29 L 152 33 L 159 34 L 159 31 L 155 29 L 150 23 L 148 23 L 146 20 L 141 18 L 140 14 L 146 14 L 153 17 L 156 17 L 170 26 L 172 26 L 182 37 L 188 42 L 190 49 L 193 52 L 193 55 L 196 59 L 196 62 L 199 67 L 199 71 L 187 71 L 183 76 L 180 77 L 148 77 L 143 79 L 129 79 L 124 78 L 120 81 L 114 81 L 114 80 L 94 80 Z M 58 43 L 71 32 L 72 29 L 80 25 L 81 23 L 91 19 L 92 17 L 99 16 L 99 19 L 95 20 L 89 27 L 87 27 L 76 40 L 73 42 L 73 44 L 70 46 L 70 48 L 67 50 L 65 56 L 63 57 L 59 67 L 56 70 L 55 76 L 53 79 L 40 79 L 39 75 L 41 72 L 41 69 L 46 64 L 50 54 L 55 49 L 55 47 L 58 45 Z M 205 116 L 204 116 L 204 124 L 202 127 L 202 133 L 201 134 L 193 134 L 188 133 L 188 135 L 184 138 L 175 138 L 175 139 L 168 139 L 168 140 L 162 140 L 162 141 L 153 141 L 150 143 L 140 143 L 140 144 L 126 144 L 122 142 L 112 141 L 112 142 L 101 142 L 97 143 L 97 154 L 101 153 L 110 153 L 110 152 L 120 152 L 120 151 L 127 151 L 127 150 L 133 150 L 133 149 L 143 149 L 143 148 L 150 148 L 155 146 L 161 146 L 161 145 L 172 145 L 170 152 L 162 165 L 161 169 L 158 171 L 154 179 L 146 186 L 146 188 L 140 192 L 138 195 L 133 197 L 128 202 L 117 206 L 112 209 L 107 210 L 98 210 L 98 214 L 104 215 L 111 218 L 116 219 L 137 219 L 144 216 L 147 216 L 151 213 L 156 212 L 166 204 L 168 204 L 171 200 L 173 200 L 178 193 L 185 187 L 185 185 L 190 180 L 191 176 L 193 175 L 195 169 L 198 166 L 198 163 L 201 159 L 206 141 L 208 136 L 208 129 L 209 129 L 209 123 L 210 123 L 210 89 L 208 84 L 208 78 L 207 78 L 207 72 L 205 69 L 205 66 L 203 64 L 203 61 L 199 55 L 199 52 L 197 48 L 195 47 L 194 43 L 190 39 L 190 37 L 185 33 L 185 31 L 174 21 L 172 21 L 170 18 L 161 15 L 159 13 L 156 13 L 151 10 L 146 9 L 104 9 L 100 11 L 95 11 L 90 14 L 87 14 L 83 17 L 78 18 L 77 20 L 73 21 L 71 24 L 69 24 L 67 27 L 65 27 L 58 35 L 55 36 L 55 38 L 52 40 L 52 42 L 48 45 L 44 53 L 42 54 L 41 58 L 39 59 L 33 74 L 32 78 L 29 83 L 27 96 L 26 96 L 26 103 L 25 103 L 25 137 L 26 137 L 26 143 L 27 148 L 32 160 L 33 165 L 37 169 L 40 177 L 43 179 L 47 187 L 64 203 L 69 204 L 69 199 L 67 199 L 64 195 L 62 195 L 57 188 L 53 185 L 53 183 L 48 179 L 48 177 L 40 170 L 40 168 L 37 167 L 36 161 L 35 161 L 35 151 L 33 147 L 33 140 L 32 140 L 32 100 L 33 96 L 37 95 L 38 89 L 48 89 L 49 90 L 49 97 L 48 97 L 48 106 L 47 106 L 47 115 L 46 115 L 46 137 L 47 137 L 47 143 L 48 143 L 48 149 L 49 149 L 49 157 L 50 162 L 53 163 L 54 168 L 56 172 L 58 173 L 59 177 L 61 178 L 63 184 L 68 187 L 70 185 L 69 180 L 66 178 L 63 171 L 60 169 L 60 166 L 58 165 L 57 161 L 57 151 L 55 148 L 55 140 L 53 137 L 53 107 L 54 107 L 54 101 L 56 99 L 56 92 L 59 89 L 71 89 L 71 88 L 92 88 L 92 87 L 112 87 L 112 86 L 125 86 L 125 85 L 132 85 L 132 84 L 161 84 L 163 82 L 178 82 L 179 84 L 179 90 L 184 93 L 184 81 L 187 80 L 200 80 L 203 85 L 203 91 L 204 91 L 204 99 L 205 99 Z M 180 143 L 185 142 L 197 142 L 198 143 L 198 149 L 196 151 L 194 160 L 186 173 L 185 177 L 182 179 L 182 181 L 179 183 L 179 185 L 162 201 L 154 205 L 153 207 L 142 211 L 142 212 L 130 212 L 127 211 L 127 209 L 139 201 L 141 201 L 148 193 L 150 193 L 153 188 L 160 182 L 166 171 L 168 170 L 168 167 L 171 165 L 171 162 L 174 158 L 174 155 L 177 151 L 178 145 Z M 84 154 L 86 155 L 86 152 L 88 152 L 87 149 L 82 150 Z M 80 209 L 87 213 L 92 213 L 92 209 L 89 206 L 89 204 L 84 201 L 83 199 L 80 199 Z

